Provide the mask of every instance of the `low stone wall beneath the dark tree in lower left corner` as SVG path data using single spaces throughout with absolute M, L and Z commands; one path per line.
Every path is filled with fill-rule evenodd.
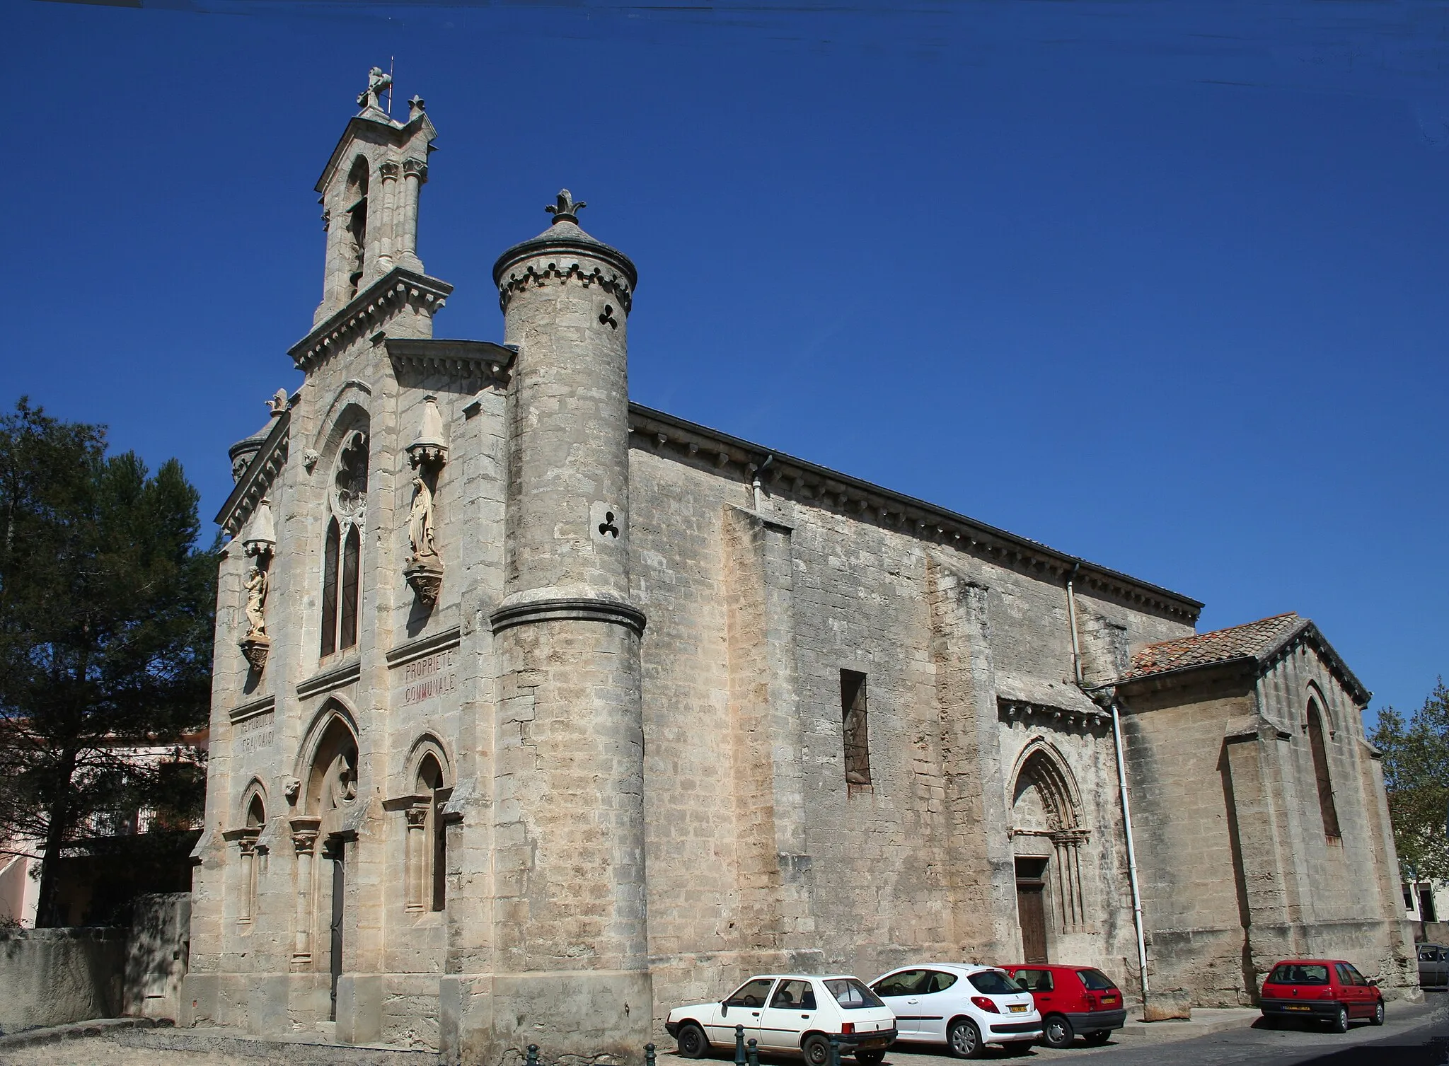
M 125 957 L 123 928 L 0 931 L 0 1033 L 114 1018 Z

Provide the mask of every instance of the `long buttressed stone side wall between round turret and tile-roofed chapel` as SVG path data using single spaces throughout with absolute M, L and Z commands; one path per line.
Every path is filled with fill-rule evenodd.
M 738 468 L 643 435 L 630 492 L 633 597 L 649 614 L 656 1012 L 759 969 L 874 976 L 913 957 L 1019 953 L 1006 778 L 1043 736 L 1085 782 L 1090 827 L 1091 918 L 1064 930 L 1059 950 L 1124 976 L 1133 949 L 1110 733 L 1082 718 L 998 721 L 998 689 L 1023 685 L 1095 711 L 1064 684 L 1061 585 L 859 508 L 767 492 L 756 510 Z M 1190 631 L 1081 600 L 1136 642 Z M 864 788 L 843 773 L 842 669 L 868 676 Z

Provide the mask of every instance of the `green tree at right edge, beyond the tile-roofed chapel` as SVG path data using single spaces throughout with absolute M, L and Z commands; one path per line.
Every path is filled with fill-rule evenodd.
M 1406 881 L 1449 879 L 1449 689 L 1443 678 L 1408 720 L 1379 711 L 1369 737 L 1384 753 L 1384 788 L 1394 817 L 1394 847 Z

